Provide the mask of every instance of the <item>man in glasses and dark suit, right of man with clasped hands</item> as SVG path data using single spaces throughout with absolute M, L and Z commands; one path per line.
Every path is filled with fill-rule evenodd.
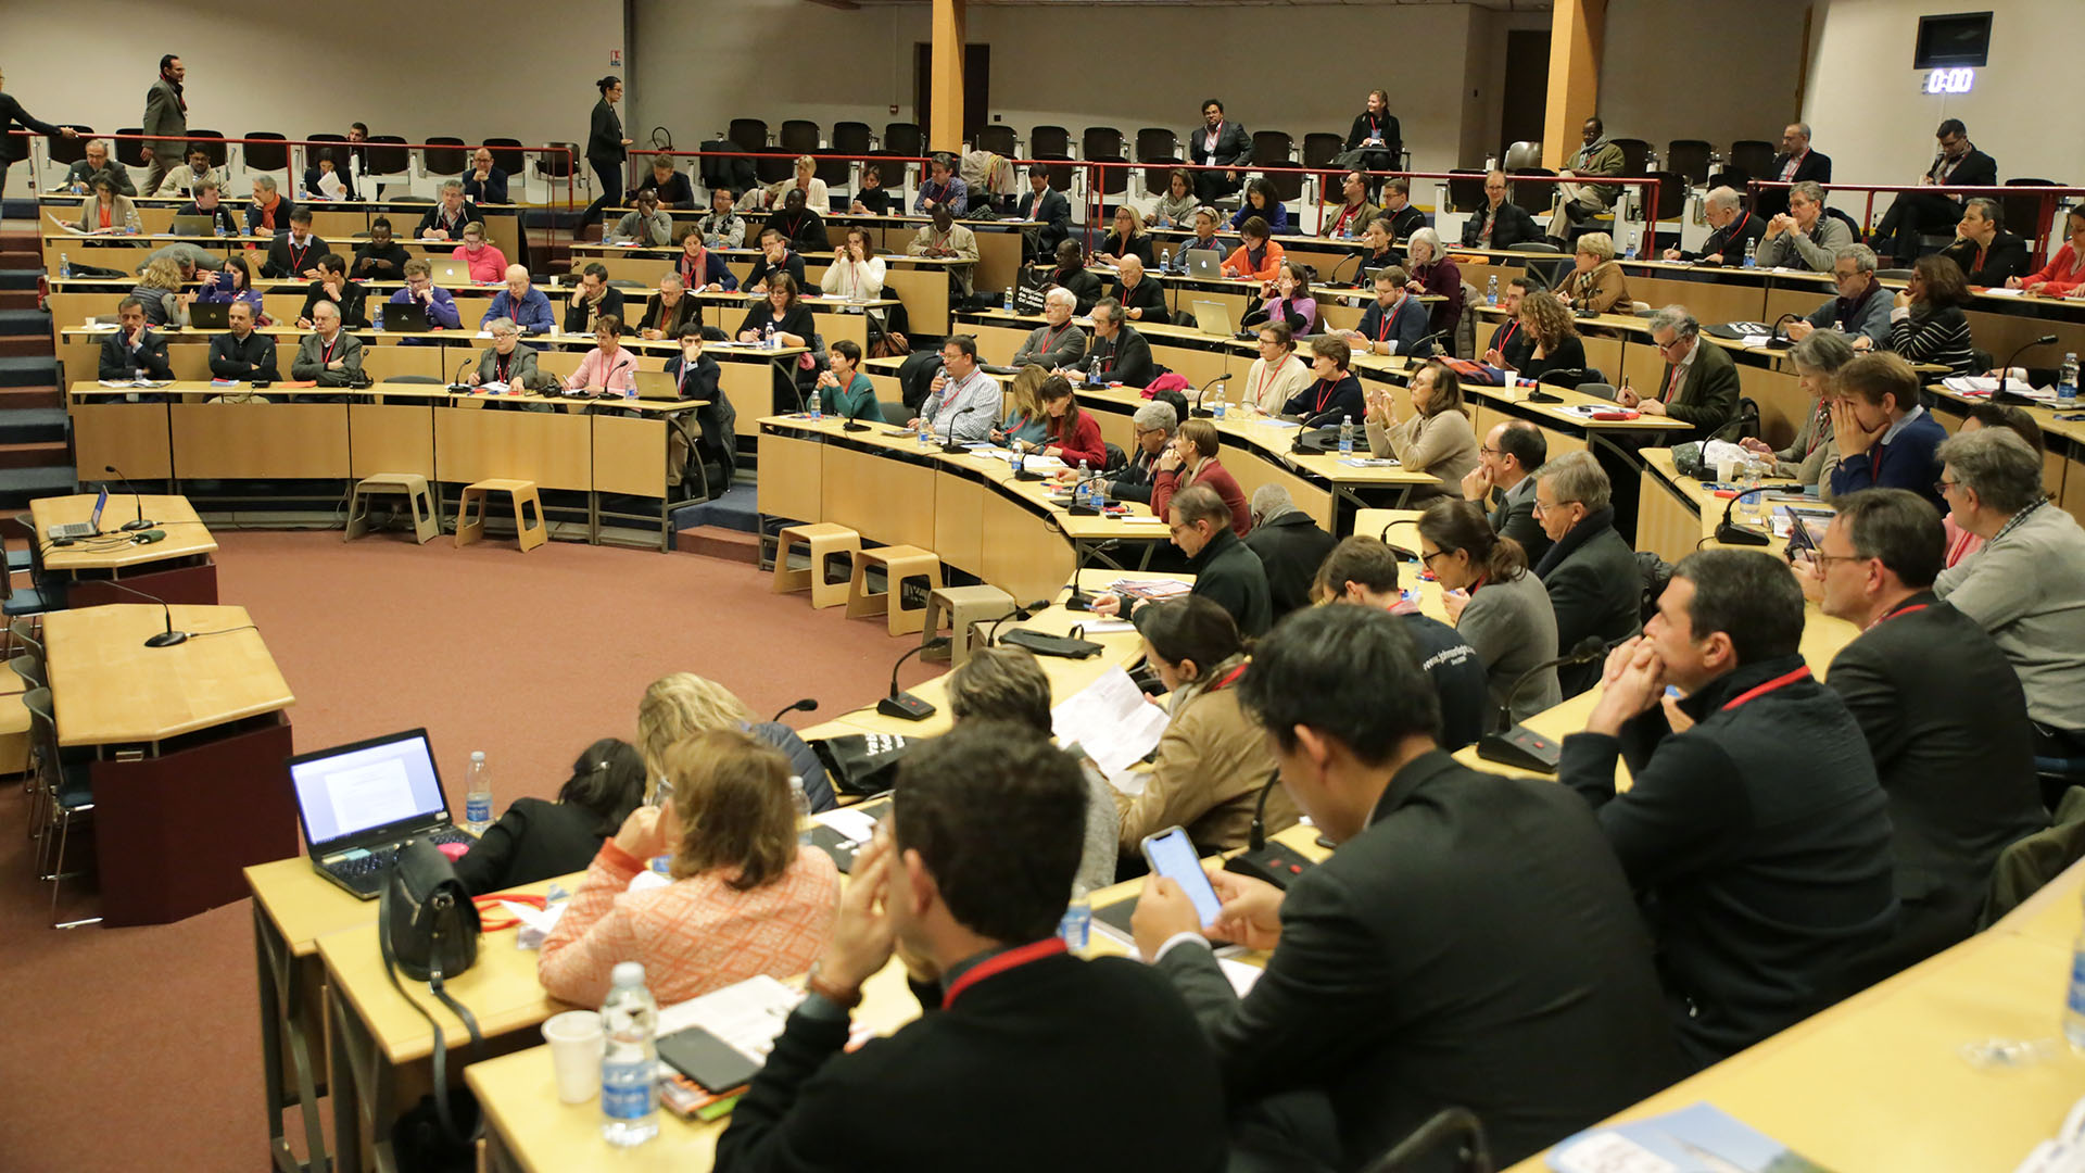
M 1833 657 L 1829 687 L 1860 722 L 1889 795 L 1904 910 L 1895 939 L 1858 971 L 1868 983 L 1977 931 L 1997 854 L 2050 816 L 2020 676 L 1977 620 L 1933 595 L 1939 511 L 1904 488 L 1837 505 L 1797 576 L 1826 616 L 1864 628 Z

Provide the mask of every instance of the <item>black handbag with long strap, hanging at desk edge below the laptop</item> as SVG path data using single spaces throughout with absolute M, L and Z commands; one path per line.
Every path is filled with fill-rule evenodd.
M 450 998 L 444 983 L 469 971 L 471 962 L 477 960 L 477 906 L 471 904 L 471 893 L 457 879 L 457 866 L 448 862 L 448 856 L 427 839 L 407 839 L 398 847 L 398 860 L 384 879 L 384 893 L 377 897 L 377 948 L 384 952 L 384 973 L 390 975 L 398 996 L 407 1002 L 413 1000 L 407 996 L 404 983 L 398 981 L 398 971 L 404 971 L 413 981 L 425 981 L 427 989 L 469 1031 L 471 1058 L 484 1052 L 486 1037 L 477 1029 L 477 1019 L 463 1002 Z M 452 1150 L 475 1154 L 484 1121 L 477 1119 L 475 1104 L 469 1104 L 469 1112 L 450 1106 L 448 1046 L 442 1042 L 442 1025 L 419 1002 L 413 1002 L 413 1008 L 427 1019 L 436 1037 L 432 1100 L 442 1144 L 430 1142 L 425 1150 L 436 1160 L 432 1167 L 446 1169 Z M 459 1117 L 467 1121 L 467 1127 L 459 1127 Z

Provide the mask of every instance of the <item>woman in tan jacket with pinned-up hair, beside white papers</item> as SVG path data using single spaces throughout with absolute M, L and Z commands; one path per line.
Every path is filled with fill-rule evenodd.
M 1140 607 L 1136 628 L 1145 660 L 1172 691 L 1172 722 L 1143 793 L 1115 791 L 1122 856 L 1138 858 L 1145 835 L 1174 824 L 1186 829 L 1201 854 L 1243 847 L 1259 789 L 1274 776 L 1274 758 L 1238 703 L 1236 685 L 1247 668 L 1238 626 L 1224 607 L 1188 597 Z M 1276 787 L 1268 795 L 1268 833 L 1295 822 L 1295 804 Z

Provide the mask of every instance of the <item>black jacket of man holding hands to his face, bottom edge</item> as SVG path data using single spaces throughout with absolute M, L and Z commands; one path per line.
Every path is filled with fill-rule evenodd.
M 861 1050 L 847 1050 L 847 1010 L 805 998 L 717 1138 L 715 1167 L 1224 1169 L 1216 1062 L 1163 977 L 1128 958 L 1078 960 L 1055 937 L 957 973 L 915 983 L 924 1014 Z M 1068 1087 L 1124 1110 L 1063 1127 Z

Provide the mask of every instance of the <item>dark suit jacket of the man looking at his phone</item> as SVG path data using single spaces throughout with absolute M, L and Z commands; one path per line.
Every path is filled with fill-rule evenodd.
M 1447 1106 L 1485 1121 L 1505 1167 L 1681 1069 L 1628 881 L 1549 781 L 1439 749 L 1409 762 L 1368 829 L 1289 885 L 1280 918 L 1243 1000 L 1191 937 L 1157 968 L 1201 1019 L 1230 1104 L 1330 1098 L 1341 1169 Z

